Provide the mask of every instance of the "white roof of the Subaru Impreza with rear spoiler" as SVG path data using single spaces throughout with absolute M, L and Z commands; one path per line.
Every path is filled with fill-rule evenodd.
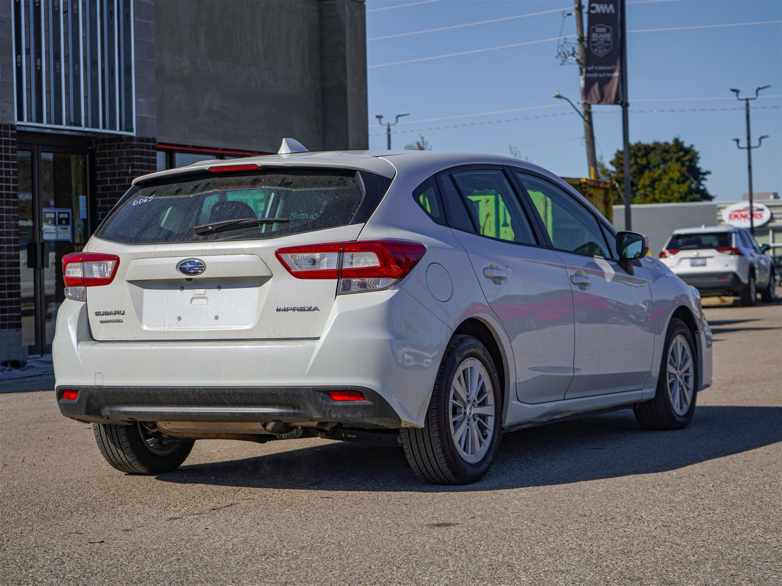
M 513 165 L 533 170 L 562 183 L 561 179 L 548 170 L 532 163 L 500 155 L 486 155 L 469 152 L 439 151 L 329 151 L 329 152 L 293 152 L 289 155 L 260 155 L 242 159 L 208 159 L 178 169 L 149 173 L 137 177 L 133 183 L 149 179 L 172 177 L 192 170 L 206 170 L 217 165 L 241 165 L 254 163 L 259 166 L 335 166 L 343 169 L 355 169 L 375 173 L 383 177 L 394 177 L 397 171 L 406 173 L 417 171 L 425 174 L 436 173 L 450 166 L 470 163 L 491 163 L 494 165 Z

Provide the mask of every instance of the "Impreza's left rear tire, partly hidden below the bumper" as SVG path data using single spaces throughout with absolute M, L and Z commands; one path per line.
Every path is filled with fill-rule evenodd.
M 185 462 L 195 443 L 194 440 L 166 443 L 166 436 L 142 428 L 142 423 L 93 423 L 92 431 L 106 462 L 128 474 L 160 474 L 176 470 Z M 151 447 L 148 441 L 158 447 Z

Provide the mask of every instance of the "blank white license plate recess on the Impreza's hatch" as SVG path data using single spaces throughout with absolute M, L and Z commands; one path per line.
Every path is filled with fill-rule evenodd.
M 148 331 L 236 330 L 258 320 L 260 280 L 131 286 L 133 307 Z

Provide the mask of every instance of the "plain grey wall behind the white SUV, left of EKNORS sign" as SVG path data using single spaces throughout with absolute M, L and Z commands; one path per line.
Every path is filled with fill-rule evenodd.
M 658 255 L 676 228 L 716 226 L 717 204 L 705 203 L 648 203 L 632 206 L 633 231 L 649 237 L 649 250 Z M 614 226 L 624 230 L 624 205 L 614 206 Z

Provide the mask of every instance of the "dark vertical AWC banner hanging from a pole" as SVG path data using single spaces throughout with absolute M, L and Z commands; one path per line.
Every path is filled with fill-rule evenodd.
M 587 63 L 584 84 L 587 104 L 619 104 L 622 45 L 619 42 L 619 0 L 589 3 Z

